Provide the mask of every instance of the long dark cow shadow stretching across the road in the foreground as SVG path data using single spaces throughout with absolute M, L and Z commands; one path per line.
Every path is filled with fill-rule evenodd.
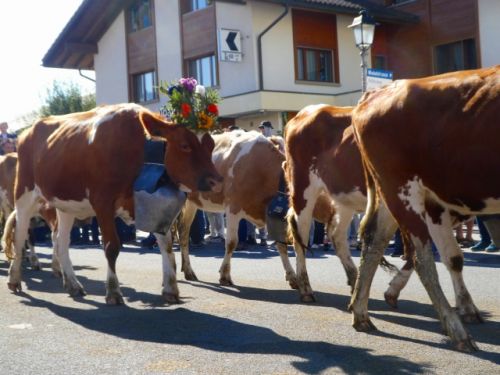
M 370 350 L 323 341 L 293 340 L 273 330 L 225 317 L 190 311 L 183 307 L 135 309 L 109 307 L 86 301 L 92 309 L 78 309 L 43 301 L 23 294 L 24 303 L 42 308 L 86 329 L 126 340 L 187 345 L 221 353 L 286 355 L 297 358 L 291 364 L 306 374 L 342 371 L 347 374 L 422 374 L 426 363 L 396 356 L 374 355 Z M 373 371 L 367 369 L 373 369 Z

